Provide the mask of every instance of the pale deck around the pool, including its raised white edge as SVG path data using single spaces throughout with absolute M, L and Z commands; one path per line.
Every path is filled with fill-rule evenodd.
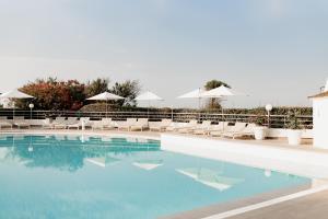
M 212 160 L 259 168 L 267 171 L 279 171 L 289 174 L 316 178 L 313 184 L 301 192 L 286 194 L 272 199 L 258 198 L 249 204 L 243 200 L 245 206 L 230 206 L 226 211 L 216 212 L 216 207 L 190 211 L 195 217 L 206 219 L 221 218 L 328 218 L 328 150 L 315 149 L 311 140 L 304 145 L 290 147 L 285 139 L 265 141 L 255 140 L 227 140 L 206 136 L 177 135 L 169 132 L 151 131 L 117 131 L 117 130 L 45 130 L 21 129 L 0 130 L 0 134 L 35 134 L 35 135 L 82 135 L 82 136 L 109 136 L 109 137 L 138 137 L 161 140 L 162 149 L 196 155 Z M 326 201 L 318 205 L 315 201 Z M 300 207 L 303 206 L 304 208 Z M 305 207 L 306 206 L 306 207 Z M 213 210 L 214 209 L 214 210 Z M 218 207 L 219 209 L 219 207 Z M 300 212 L 300 210 L 302 212 Z M 209 215 L 210 214 L 210 215 Z M 274 217 L 274 215 L 277 214 Z M 181 214 L 168 218 L 191 218 L 190 214 Z

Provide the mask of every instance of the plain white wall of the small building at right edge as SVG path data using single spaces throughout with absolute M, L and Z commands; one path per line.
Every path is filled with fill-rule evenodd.
M 328 97 L 313 100 L 314 146 L 328 149 Z

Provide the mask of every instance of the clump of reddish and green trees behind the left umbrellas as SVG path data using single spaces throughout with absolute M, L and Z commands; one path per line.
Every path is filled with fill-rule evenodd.
M 20 90 L 35 96 L 33 100 L 19 100 L 19 108 L 28 108 L 31 102 L 35 110 L 45 111 L 78 111 L 86 103 L 86 99 L 108 90 L 109 80 L 98 78 L 86 84 L 78 80 L 59 81 L 57 78 L 37 79 L 28 82 Z M 116 106 L 136 106 L 136 96 L 140 91 L 138 81 L 127 80 L 115 83 L 109 92 L 126 97 L 113 101 Z

